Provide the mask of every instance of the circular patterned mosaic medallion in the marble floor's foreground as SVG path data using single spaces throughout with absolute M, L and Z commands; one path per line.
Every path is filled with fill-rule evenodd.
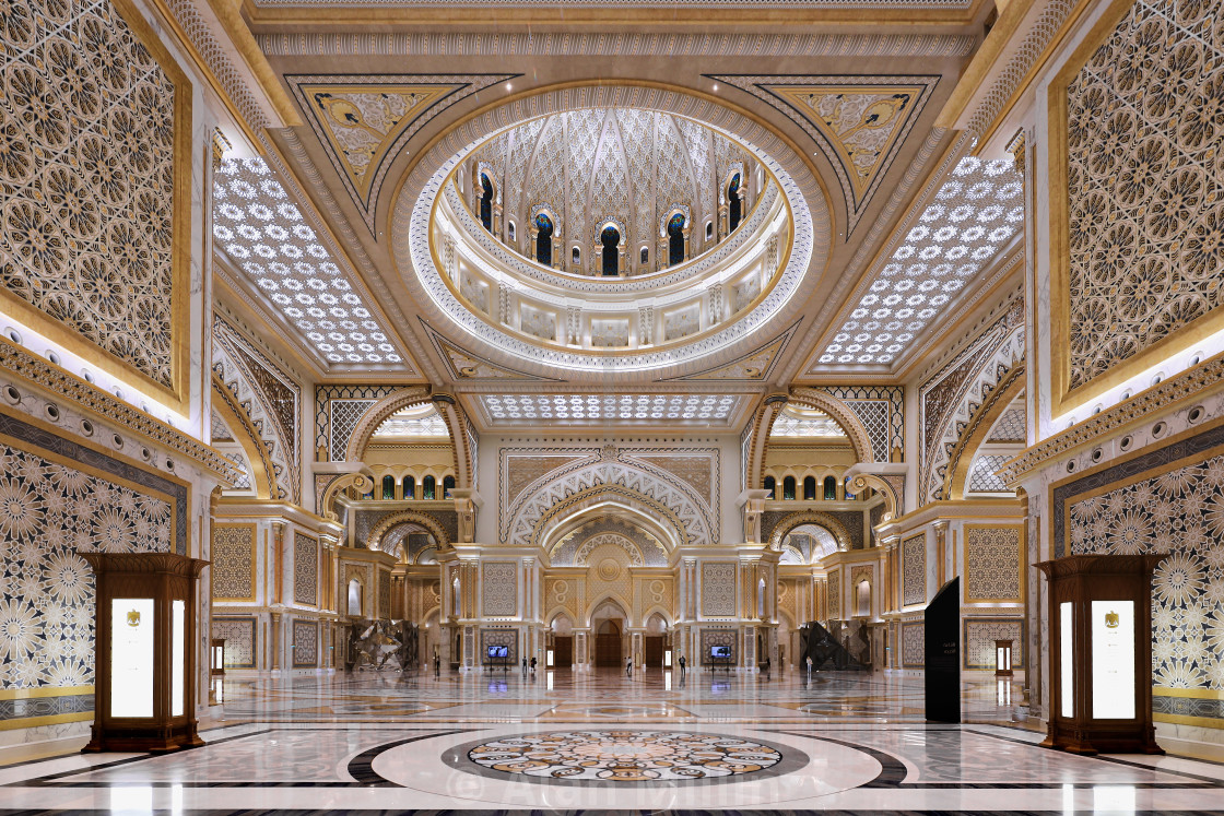
M 447 751 L 447 765 L 507 782 L 738 782 L 788 773 L 807 755 L 756 739 L 665 730 L 564 730 L 501 736 Z

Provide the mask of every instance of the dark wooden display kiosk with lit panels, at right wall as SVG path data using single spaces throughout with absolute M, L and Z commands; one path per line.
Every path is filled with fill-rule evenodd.
M 1152 722 L 1152 571 L 1164 555 L 1070 555 L 1049 579 L 1050 716 L 1042 745 L 1164 754 Z

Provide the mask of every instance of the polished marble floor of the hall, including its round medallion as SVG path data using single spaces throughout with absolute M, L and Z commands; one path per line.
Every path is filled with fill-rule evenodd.
M 230 679 L 204 747 L 0 767 L 0 814 L 1224 812 L 1224 765 L 1050 751 L 1018 686 L 962 699 L 947 725 L 884 674 Z

